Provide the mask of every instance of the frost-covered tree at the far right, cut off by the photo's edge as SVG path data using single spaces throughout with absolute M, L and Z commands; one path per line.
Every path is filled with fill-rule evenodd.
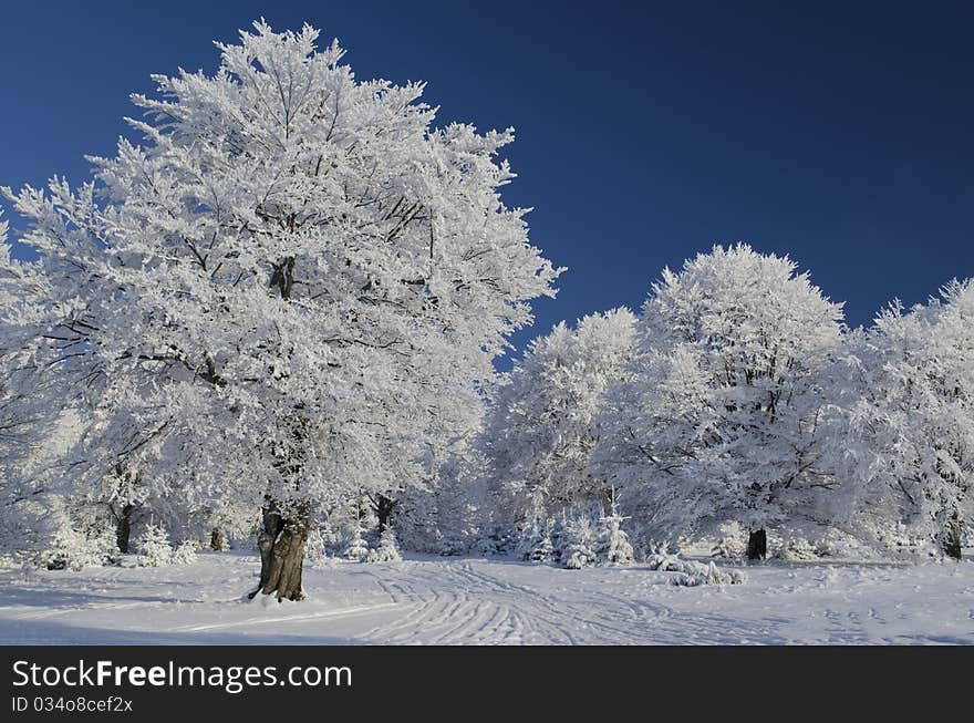
M 960 557 L 974 519 L 974 281 L 910 310 L 894 302 L 850 335 L 841 369 L 837 513 L 869 537 L 902 541 L 902 529 Z

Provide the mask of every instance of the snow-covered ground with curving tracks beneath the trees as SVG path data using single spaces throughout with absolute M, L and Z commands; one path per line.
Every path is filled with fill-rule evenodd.
M 131 564 L 129 564 L 131 565 Z M 309 600 L 241 599 L 252 555 L 0 571 L 0 643 L 974 643 L 974 561 L 785 564 L 733 587 L 645 567 L 415 558 L 305 568 Z

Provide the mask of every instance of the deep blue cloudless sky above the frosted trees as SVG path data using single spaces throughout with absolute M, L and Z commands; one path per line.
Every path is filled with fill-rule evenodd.
M 265 16 L 338 37 L 359 78 L 427 81 L 443 121 L 517 128 L 505 198 L 569 267 L 518 345 L 718 241 L 789 254 L 853 326 L 974 276 L 974 6 L 780 4 L 9 3 L 0 185 L 86 179 L 149 73 L 211 72 Z

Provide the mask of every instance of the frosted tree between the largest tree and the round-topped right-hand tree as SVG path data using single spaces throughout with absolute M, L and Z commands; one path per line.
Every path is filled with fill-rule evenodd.
M 518 524 L 537 500 L 548 514 L 602 500 L 608 487 L 589 458 L 598 415 L 619 381 L 635 339 L 628 309 L 564 322 L 530 342 L 489 411 L 486 452 L 499 514 Z

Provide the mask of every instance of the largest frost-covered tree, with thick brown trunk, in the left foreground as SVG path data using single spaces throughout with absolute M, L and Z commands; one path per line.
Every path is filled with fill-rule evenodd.
M 262 505 L 260 589 L 291 599 L 312 507 L 419 478 L 558 275 L 500 199 L 510 131 L 436 128 L 317 38 L 255 23 L 134 95 L 144 143 L 93 183 L 4 190 L 39 255 L 4 266 L 18 353 L 89 420 L 65 478 Z

